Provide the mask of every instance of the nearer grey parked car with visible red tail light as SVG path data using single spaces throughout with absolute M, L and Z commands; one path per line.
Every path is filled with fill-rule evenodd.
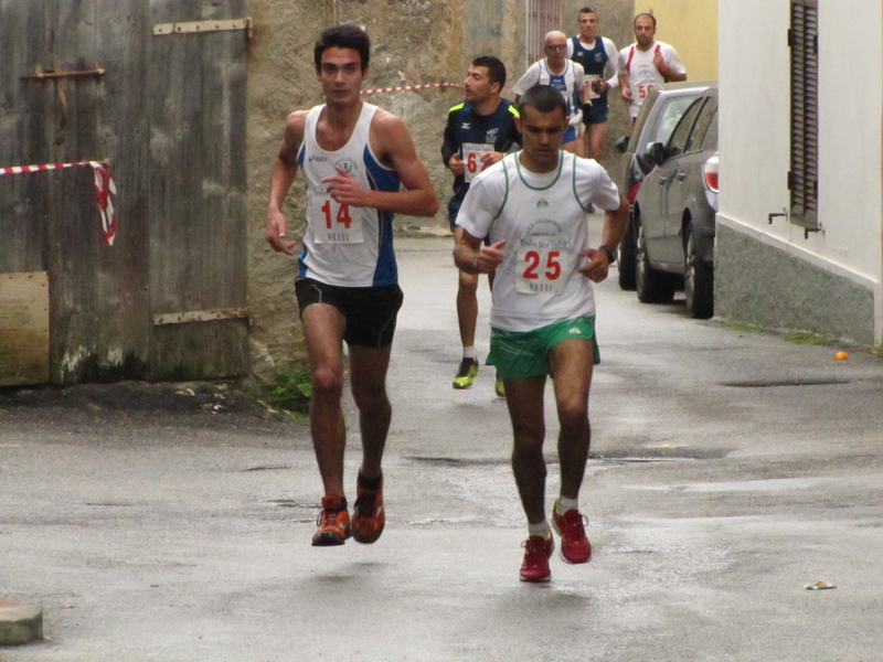
M 684 111 L 666 141 L 647 148 L 653 169 L 635 197 L 635 285 L 646 303 L 669 302 L 683 282 L 694 318 L 714 314 L 717 88 Z

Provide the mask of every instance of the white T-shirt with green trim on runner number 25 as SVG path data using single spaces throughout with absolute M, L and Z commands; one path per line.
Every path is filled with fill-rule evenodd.
M 586 210 L 619 207 L 619 191 L 591 159 L 560 151 L 558 167 L 538 174 L 509 154 L 472 180 L 457 224 L 474 237 L 506 239 L 493 280 L 491 327 L 532 331 L 595 314 L 588 278 L 577 268 L 589 244 Z

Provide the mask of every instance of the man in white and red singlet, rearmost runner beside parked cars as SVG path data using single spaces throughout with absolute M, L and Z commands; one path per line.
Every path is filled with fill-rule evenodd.
M 687 81 L 684 67 L 673 46 L 656 41 L 656 17 L 640 13 L 635 18 L 635 38 L 619 51 L 619 89 L 628 104 L 631 121 L 638 117 L 643 99 L 662 83 Z

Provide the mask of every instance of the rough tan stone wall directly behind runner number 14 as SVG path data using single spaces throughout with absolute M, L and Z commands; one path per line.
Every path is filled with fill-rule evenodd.
M 459 82 L 461 12 L 462 2 L 249 0 L 255 32 L 248 61 L 248 307 L 252 372 L 258 380 L 272 381 L 276 366 L 305 361 L 292 285 L 297 263 L 269 248 L 264 223 L 285 119 L 292 110 L 322 102 L 312 63 L 319 32 L 337 23 L 366 29 L 372 39 L 369 88 Z M 440 163 L 440 134 L 447 108 L 459 96 L 455 88 L 370 97 L 405 120 L 439 197 L 449 186 Z M 285 210 L 291 238 L 302 232 L 304 203 L 302 182 L 297 181 Z M 446 227 L 442 214 L 435 222 L 421 222 Z M 400 217 L 396 225 L 413 226 L 414 220 Z

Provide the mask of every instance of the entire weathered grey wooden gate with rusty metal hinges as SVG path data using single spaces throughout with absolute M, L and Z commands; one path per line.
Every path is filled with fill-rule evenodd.
M 0 175 L 0 274 L 46 274 L 49 309 L 46 370 L 22 369 L 40 351 L 3 333 L 0 290 L 0 384 L 247 372 L 244 19 L 245 0 L 0 2 L 0 168 L 105 161 L 118 192 L 108 246 L 92 168 Z

